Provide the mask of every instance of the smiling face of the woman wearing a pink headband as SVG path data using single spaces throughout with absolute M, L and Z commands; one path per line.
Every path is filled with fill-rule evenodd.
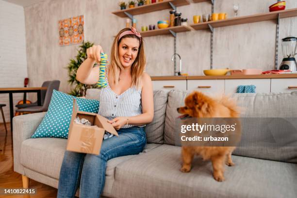
M 122 38 L 118 45 L 118 58 L 123 67 L 132 66 L 139 50 L 137 38 Z

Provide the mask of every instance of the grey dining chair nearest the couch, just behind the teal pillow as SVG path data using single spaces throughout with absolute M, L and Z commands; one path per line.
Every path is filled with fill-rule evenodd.
M 46 112 L 48 111 L 49 108 L 49 102 L 51 99 L 51 95 L 53 90 L 59 91 L 60 87 L 60 81 L 54 80 L 49 83 L 48 89 L 46 91 L 44 103 L 42 106 L 32 106 L 32 107 L 27 107 L 27 108 L 22 108 L 22 109 L 16 109 L 16 112 L 23 114 L 32 114 L 32 113 L 38 113 L 38 112 Z

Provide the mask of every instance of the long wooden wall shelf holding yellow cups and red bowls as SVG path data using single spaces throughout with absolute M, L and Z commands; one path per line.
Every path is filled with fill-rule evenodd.
M 239 17 L 218 20 L 218 21 L 197 23 L 197 24 L 192 24 L 190 26 L 195 30 L 205 30 L 205 29 L 209 29 L 208 24 L 210 24 L 214 28 L 218 28 L 218 27 L 253 23 L 253 22 L 259 22 L 259 21 L 265 21 L 265 20 L 273 20 L 278 18 L 278 14 L 280 14 L 280 18 L 297 16 L 297 8 L 289 9 L 289 10 L 281 10 L 276 12 L 269 12 L 264 14 L 250 15 L 250 16 L 239 16 Z

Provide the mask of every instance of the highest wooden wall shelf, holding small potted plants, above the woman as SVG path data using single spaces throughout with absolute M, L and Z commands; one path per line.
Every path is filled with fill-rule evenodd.
M 120 16 L 120 17 L 127 17 L 127 15 L 124 12 L 127 12 L 133 16 L 141 15 L 141 14 L 155 12 L 155 11 L 159 11 L 159 10 L 170 9 L 171 6 L 170 6 L 169 2 L 171 2 L 175 6 L 182 6 L 182 5 L 190 4 L 189 0 L 164 0 L 162 2 L 151 3 L 148 5 L 137 6 L 134 8 L 127 8 L 125 10 L 119 10 L 119 11 L 115 11 L 112 13 L 114 15 Z

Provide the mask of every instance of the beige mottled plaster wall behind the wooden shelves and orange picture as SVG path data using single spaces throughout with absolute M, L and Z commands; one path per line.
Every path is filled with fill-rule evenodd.
M 238 16 L 268 12 L 276 0 L 216 0 L 215 12 L 226 12 L 233 17 L 233 3 L 240 6 Z M 69 91 L 67 70 L 69 59 L 76 55 L 78 45 L 60 47 L 58 20 L 84 15 L 85 40 L 100 44 L 110 54 L 113 36 L 125 27 L 126 19 L 112 14 L 118 10 L 118 0 L 46 0 L 25 7 L 28 74 L 31 86 L 58 79 L 60 90 Z M 296 8 L 296 0 L 287 0 L 287 9 Z M 193 15 L 211 13 L 211 3 L 191 3 L 178 7 L 182 17 L 192 24 Z M 137 29 L 166 19 L 169 9 L 135 16 Z M 297 36 L 297 17 L 281 19 L 280 38 Z M 223 27 L 214 33 L 214 68 L 229 67 L 274 69 L 276 21 Z M 208 30 L 178 33 L 177 52 L 181 54 L 183 72 L 202 75 L 210 67 L 210 36 Z M 147 72 L 152 76 L 173 75 L 174 39 L 170 35 L 145 38 Z M 281 62 L 282 54 L 279 50 Z M 35 95 L 32 95 L 35 97 Z

